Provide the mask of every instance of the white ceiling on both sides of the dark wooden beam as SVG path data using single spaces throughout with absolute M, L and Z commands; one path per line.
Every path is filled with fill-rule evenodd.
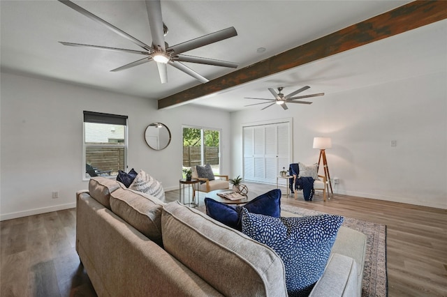
M 144 1 L 74 2 L 144 43 L 151 43 Z M 408 2 L 162 1 L 161 10 L 169 28 L 166 36 L 169 45 L 234 26 L 238 36 L 185 54 L 232 61 L 243 68 Z M 72 82 L 151 100 L 200 84 L 170 66 L 168 83 L 161 84 L 153 62 L 111 73 L 110 70 L 142 56 L 61 45 L 58 41 L 140 50 L 129 40 L 58 1 L 2 0 L 0 10 L 1 70 L 4 72 Z M 283 93 L 288 94 L 306 84 L 312 88 L 300 95 L 320 92 L 328 95 L 445 70 L 446 66 L 439 65 L 437 59 L 445 57 L 447 52 L 446 28 L 446 21 L 430 24 L 199 98 L 193 104 L 228 111 L 260 109 L 263 105 L 244 107 L 260 101 L 243 98 L 270 98 L 268 87 L 285 86 Z M 265 52 L 256 52 L 258 47 L 265 47 Z M 188 66 L 210 80 L 234 71 L 192 63 Z M 322 98 L 325 97 L 312 100 Z

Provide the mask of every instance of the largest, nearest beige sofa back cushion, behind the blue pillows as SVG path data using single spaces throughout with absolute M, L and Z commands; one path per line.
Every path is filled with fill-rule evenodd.
M 165 250 L 221 294 L 287 296 L 277 253 L 205 213 L 171 202 L 161 230 Z

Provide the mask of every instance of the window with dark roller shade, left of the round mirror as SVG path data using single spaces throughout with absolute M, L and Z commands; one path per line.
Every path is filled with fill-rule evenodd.
M 127 116 L 84 112 L 83 177 L 116 176 L 127 155 Z

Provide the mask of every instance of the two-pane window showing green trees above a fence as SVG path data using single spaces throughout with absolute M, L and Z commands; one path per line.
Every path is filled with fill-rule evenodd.
M 210 164 L 214 174 L 221 170 L 220 130 L 183 128 L 183 167 Z

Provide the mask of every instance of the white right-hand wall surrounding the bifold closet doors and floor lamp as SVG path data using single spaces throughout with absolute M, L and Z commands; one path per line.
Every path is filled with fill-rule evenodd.
M 331 178 L 340 180 L 335 192 L 447 208 L 446 82 L 444 71 L 326 94 L 286 111 L 234 112 L 233 175 L 242 174 L 244 123 L 293 117 L 294 162 L 318 162 L 313 138 L 332 137 L 326 155 Z

